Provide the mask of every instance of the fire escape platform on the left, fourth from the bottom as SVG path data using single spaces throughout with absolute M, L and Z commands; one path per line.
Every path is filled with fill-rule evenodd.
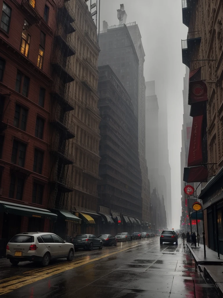
M 74 110 L 74 100 L 68 95 L 68 90 L 63 90 L 59 85 L 54 85 L 51 95 L 60 103 L 64 111 Z

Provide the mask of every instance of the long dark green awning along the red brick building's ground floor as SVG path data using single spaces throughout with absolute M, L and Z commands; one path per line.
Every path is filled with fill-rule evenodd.
M 15 204 L 5 201 L 0 201 L 0 212 L 35 218 L 45 218 L 51 221 L 57 220 L 57 215 L 50 212 L 47 209 Z

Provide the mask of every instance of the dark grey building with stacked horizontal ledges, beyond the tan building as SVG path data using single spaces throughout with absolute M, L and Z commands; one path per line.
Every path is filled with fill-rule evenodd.
M 127 91 L 108 65 L 99 66 L 100 205 L 114 218 L 114 234 L 140 231 L 142 176 L 138 152 L 138 120 Z M 109 213 L 108 212 L 108 213 Z M 107 226 L 106 226 L 107 227 Z M 105 233 L 106 231 L 101 231 Z

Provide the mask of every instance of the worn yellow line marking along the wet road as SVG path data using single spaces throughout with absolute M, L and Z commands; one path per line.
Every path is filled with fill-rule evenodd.
M 155 241 L 155 240 L 153 240 L 153 241 Z M 146 241 L 145 243 L 151 243 L 153 241 Z M 140 246 L 140 245 L 145 244 L 145 243 L 137 244 L 137 245 L 127 247 L 127 248 L 124 248 L 124 249 L 120 249 L 119 251 L 116 251 L 116 252 L 104 254 L 100 257 L 96 257 L 96 258 L 91 259 L 91 260 L 90 259 L 85 260 L 85 261 L 80 260 L 79 263 L 76 263 L 76 260 L 74 260 L 72 263 L 67 263 L 66 262 L 65 264 L 62 264 L 61 266 L 56 266 L 56 267 L 50 266 L 48 268 L 46 267 L 46 268 L 26 271 L 26 272 L 23 273 L 24 275 L 32 274 L 31 276 L 29 275 L 27 277 L 25 277 L 24 275 L 23 276 L 22 275 L 16 275 L 14 277 L 5 278 L 4 280 L 0 281 L 0 296 L 3 295 L 3 294 L 7 294 L 9 292 L 12 292 L 13 290 L 21 288 L 25 285 L 29 285 L 29 284 L 34 283 L 36 281 L 39 281 L 39 280 L 42 280 L 44 278 L 50 277 L 52 275 L 55 275 L 55 274 L 58 274 L 58 273 L 61 273 L 61 272 L 64 272 L 64 271 L 79 267 L 79 266 L 83 266 L 83 265 L 92 263 L 92 262 L 97 261 L 97 260 L 101 260 L 105 257 L 112 256 L 112 255 L 117 254 L 119 252 L 124 252 L 127 249 L 131 249 L 133 247 Z M 40 275 L 40 273 L 42 273 L 42 274 Z

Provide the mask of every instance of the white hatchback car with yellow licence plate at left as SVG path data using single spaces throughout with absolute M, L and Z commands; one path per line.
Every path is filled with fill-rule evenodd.
M 53 233 L 20 233 L 15 235 L 6 247 L 6 257 L 12 265 L 30 261 L 47 266 L 52 259 L 67 258 L 67 261 L 72 261 L 73 255 L 73 244 Z

